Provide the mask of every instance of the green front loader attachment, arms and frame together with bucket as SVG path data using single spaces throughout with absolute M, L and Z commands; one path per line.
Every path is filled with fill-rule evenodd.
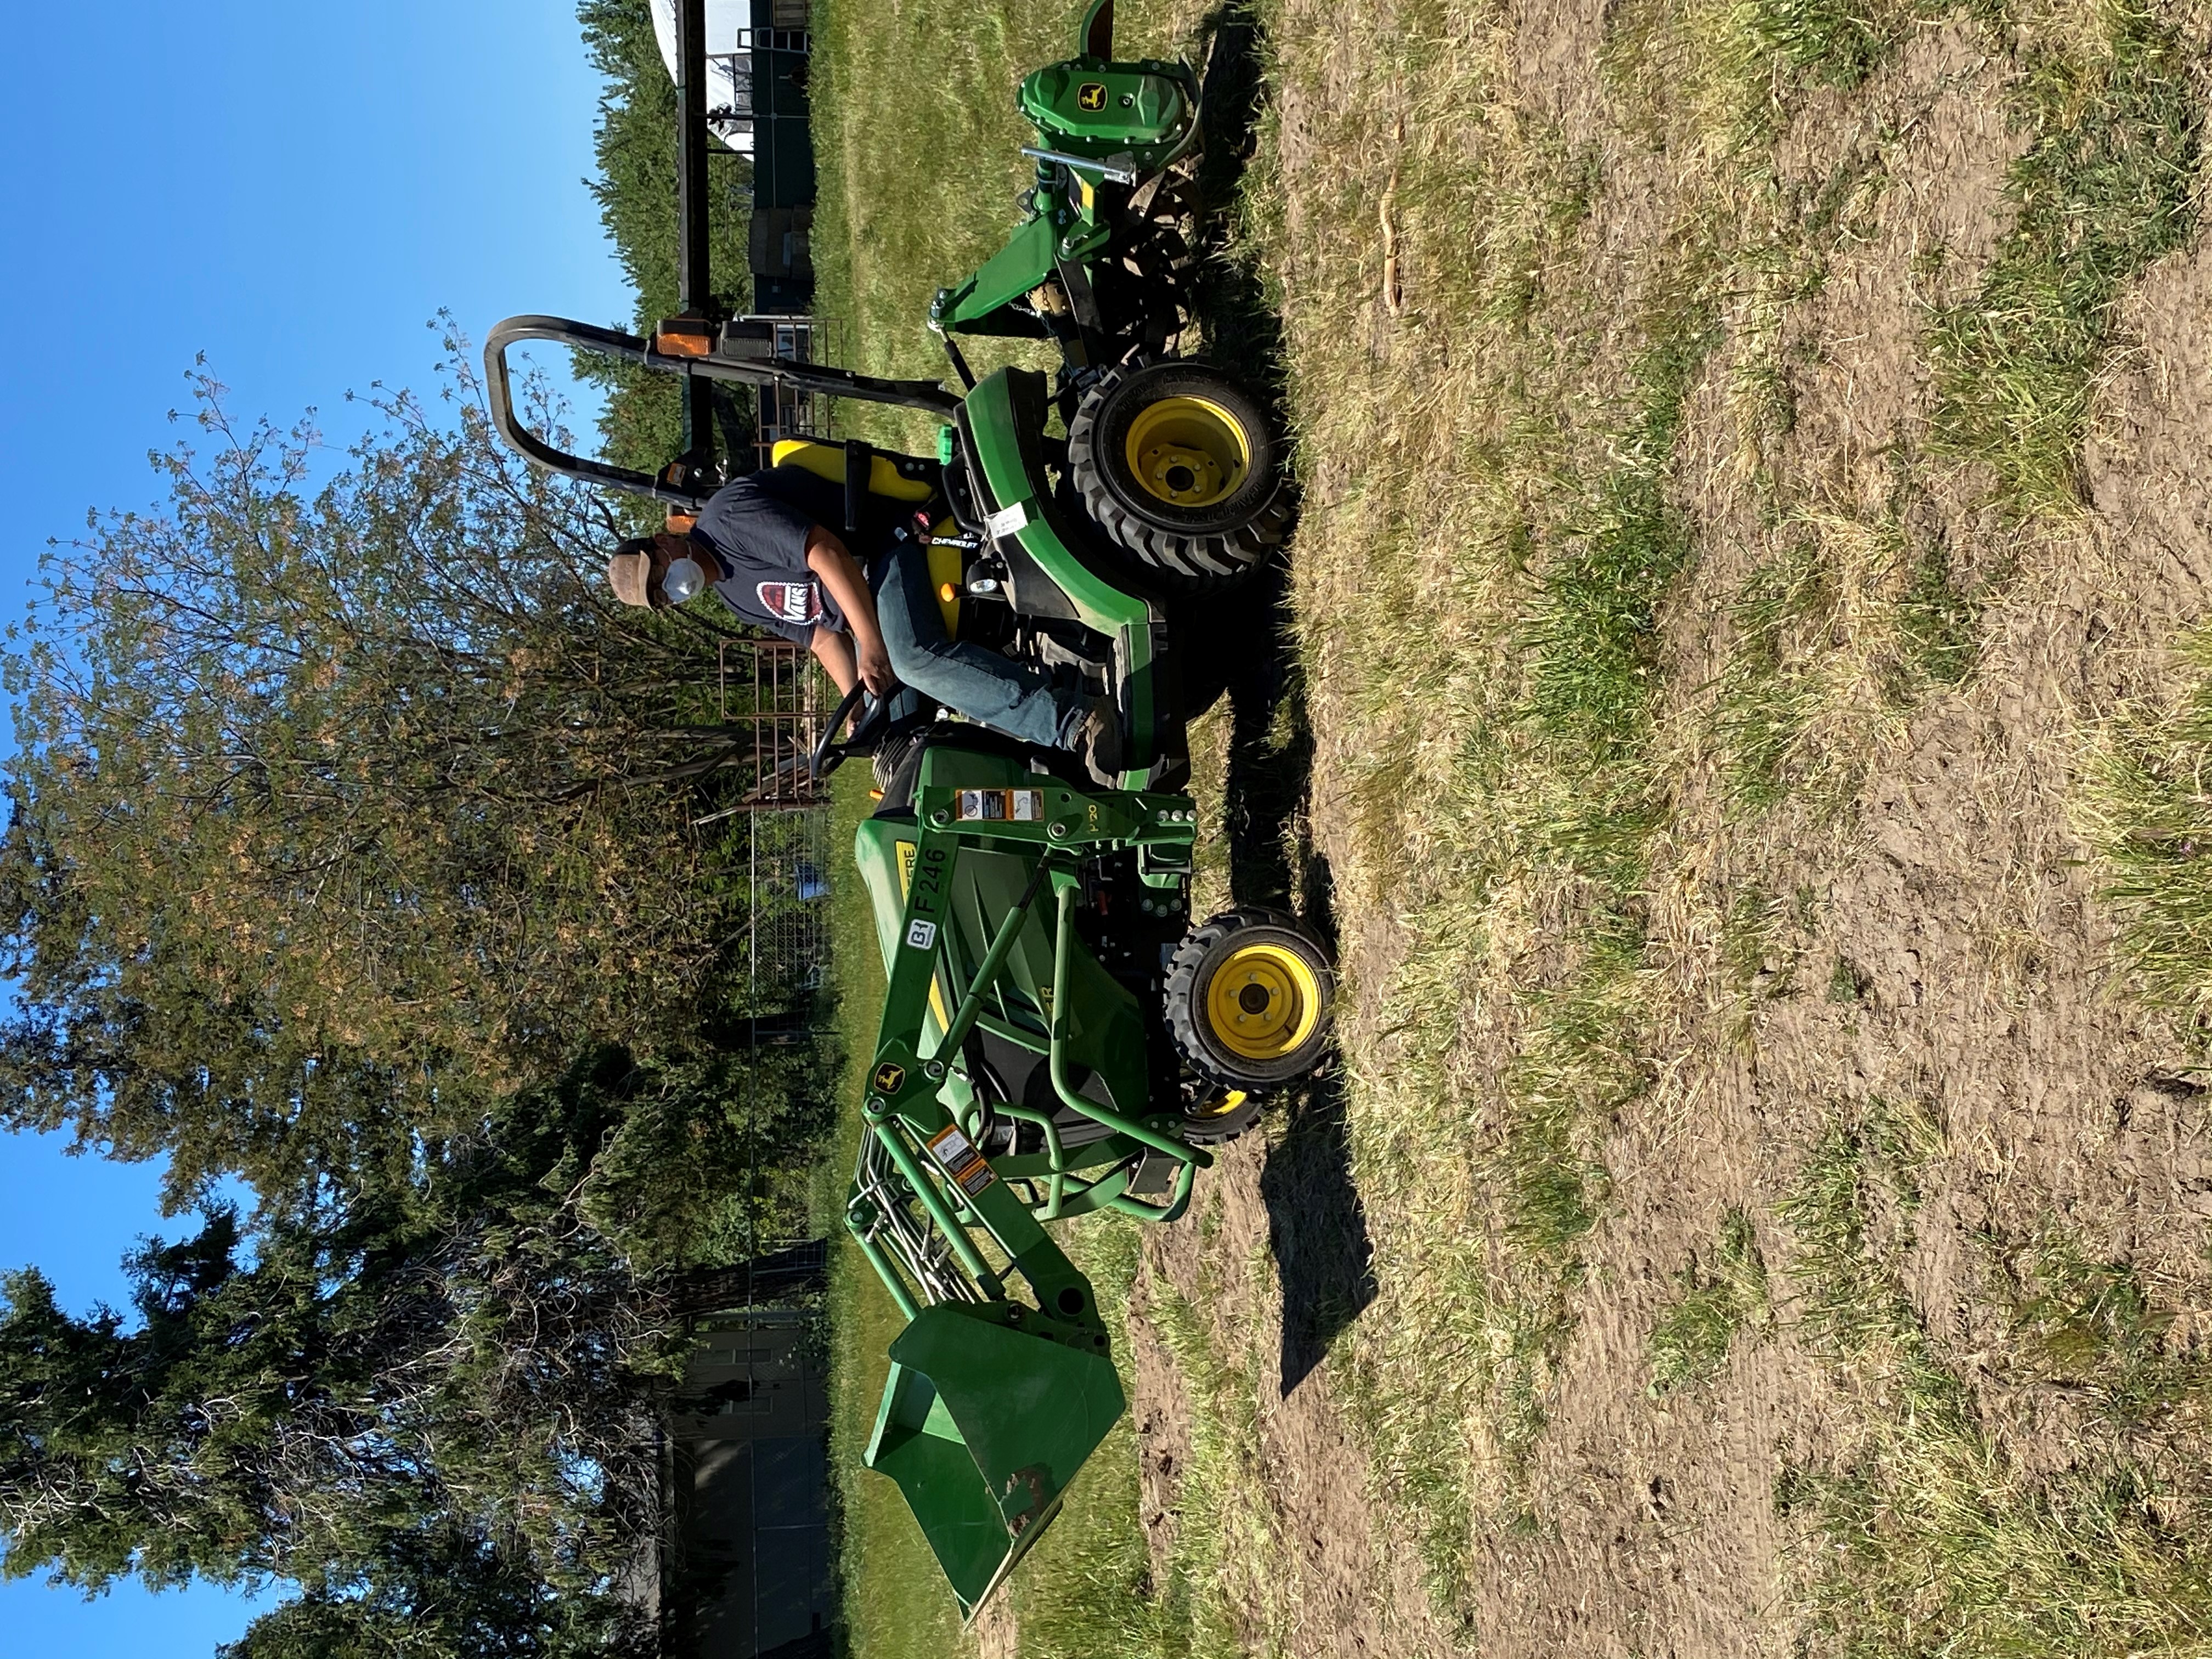
M 1053 914 L 1051 1079 L 1064 1108 L 1113 1130 L 1115 1168 L 1086 1183 L 1099 1206 L 1172 1219 L 1210 1155 L 1172 1133 L 1172 1115 L 1148 1102 L 1113 1106 L 1079 1093 L 1068 1075 L 1068 964 L 1082 863 L 1135 847 L 1141 869 L 1161 885 L 1183 878 L 1197 814 L 1188 796 L 1093 794 L 1029 774 L 1022 801 L 987 796 L 1015 790 L 962 790 L 938 783 L 925 757 L 916 792 L 911 880 L 889 945 L 883 1026 L 863 1104 L 869 1144 L 863 1179 L 847 1203 L 847 1225 L 883 1276 L 907 1327 L 891 1343 L 876 1431 L 863 1462 L 898 1482 L 964 1615 L 973 1617 L 1037 1542 L 1077 1469 L 1124 1411 L 1106 1323 L 1091 1281 L 1037 1219 L 1031 1199 L 982 1155 L 973 1121 L 956 1119 L 947 1095 L 962 1079 L 969 1033 L 991 998 L 1033 911 Z M 1031 876 L 960 991 L 942 995 L 938 967 L 949 953 L 953 869 L 962 852 L 1018 852 Z M 1148 878 L 1152 878 L 1148 876 Z M 964 1093 L 964 1091 L 962 1091 Z M 956 1095 L 958 1097 L 958 1095 Z M 1124 1186 L 1139 1159 L 1177 1168 L 1166 1206 L 1148 1206 Z M 1051 1208 L 1064 1197 L 1053 1177 Z M 1004 1267 L 980 1248 L 982 1234 Z M 1024 1281 L 1033 1303 L 1009 1294 Z

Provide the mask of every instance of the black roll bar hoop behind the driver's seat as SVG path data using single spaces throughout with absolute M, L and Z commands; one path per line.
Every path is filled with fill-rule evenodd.
M 712 352 L 677 356 L 653 349 L 653 343 L 637 334 L 597 327 L 595 323 L 575 323 L 566 316 L 509 316 L 491 330 L 491 336 L 484 341 L 484 389 L 491 398 L 491 425 L 507 440 L 509 449 L 562 478 L 622 489 L 630 495 L 650 495 L 686 513 L 695 513 L 706 504 L 703 491 L 684 489 L 653 473 L 613 467 L 604 460 L 571 456 L 522 425 L 515 416 L 513 385 L 507 374 L 507 349 L 520 341 L 551 341 L 575 352 L 595 352 L 597 356 L 637 363 L 657 374 L 679 376 L 686 389 L 697 380 L 734 380 L 739 385 L 776 385 L 830 398 L 856 398 L 860 403 L 894 403 L 905 409 L 929 409 L 940 416 L 949 416 L 960 407 L 960 398 L 938 380 L 883 380 L 872 374 L 832 369 L 821 363 L 794 363 L 790 358 L 732 358 Z

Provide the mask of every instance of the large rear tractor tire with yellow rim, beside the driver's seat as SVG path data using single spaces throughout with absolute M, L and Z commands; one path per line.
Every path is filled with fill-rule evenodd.
M 1181 442 L 1179 409 L 1199 409 L 1197 425 L 1219 442 Z M 1146 427 L 1166 436 L 1144 447 Z M 1139 471 L 1144 462 L 1159 469 L 1152 482 Z M 1290 520 L 1283 442 L 1265 405 L 1208 363 L 1106 369 L 1068 422 L 1068 473 L 1091 520 L 1177 593 L 1219 593 L 1248 580 Z

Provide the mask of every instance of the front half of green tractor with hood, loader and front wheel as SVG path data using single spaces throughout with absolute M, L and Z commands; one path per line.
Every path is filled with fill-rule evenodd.
M 1329 1040 L 1329 958 L 1298 922 L 1190 927 L 1190 796 L 1040 759 L 942 730 L 856 845 L 887 991 L 845 1223 L 909 1321 L 865 1460 L 964 1613 L 1124 1409 L 1046 1223 L 1175 1221 L 1208 1148 Z

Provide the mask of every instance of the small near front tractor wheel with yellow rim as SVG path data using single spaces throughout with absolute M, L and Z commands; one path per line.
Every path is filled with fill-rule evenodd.
M 1241 989 L 1219 987 L 1217 998 L 1223 971 L 1250 978 Z M 1267 998 L 1265 1006 L 1254 991 Z M 1234 1015 L 1219 1018 L 1232 993 L 1259 1024 L 1239 1031 Z M 1192 927 L 1168 962 L 1168 1033 L 1186 1064 L 1223 1088 L 1256 1093 L 1305 1077 L 1329 1051 L 1334 998 L 1327 949 L 1298 920 L 1272 909 L 1232 909 Z

